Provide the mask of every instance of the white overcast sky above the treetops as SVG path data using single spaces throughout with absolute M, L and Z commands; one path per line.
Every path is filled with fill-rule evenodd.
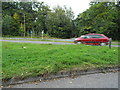
M 90 2 L 90 0 L 38 0 L 38 1 L 44 2 L 51 8 L 57 5 L 62 7 L 65 5 L 68 8 L 71 7 L 75 17 L 77 17 L 79 13 L 82 13 L 83 11 L 88 9 Z

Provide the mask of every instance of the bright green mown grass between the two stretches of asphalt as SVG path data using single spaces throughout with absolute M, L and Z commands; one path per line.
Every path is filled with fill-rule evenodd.
M 116 47 L 12 42 L 2 45 L 3 79 L 118 65 Z

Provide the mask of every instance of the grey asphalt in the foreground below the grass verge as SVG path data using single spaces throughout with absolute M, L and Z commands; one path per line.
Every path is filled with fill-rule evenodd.
M 118 88 L 118 72 L 81 75 L 43 82 L 30 82 L 8 88 Z

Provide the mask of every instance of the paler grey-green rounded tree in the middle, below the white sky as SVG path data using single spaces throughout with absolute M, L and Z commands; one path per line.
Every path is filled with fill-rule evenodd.
M 68 12 L 69 11 L 69 12 Z M 46 19 L 48 34 L 53 37 L 72 37 L 73 21 L 71 10 L 57 6 L 49 12 Z

